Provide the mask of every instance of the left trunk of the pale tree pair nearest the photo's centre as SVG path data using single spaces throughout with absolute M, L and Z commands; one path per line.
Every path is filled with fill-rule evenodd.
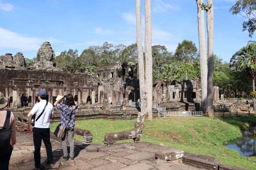
M 140 101 L 141 101 L 141 115 L 145 115 L 145 69 L 144 69 L 144 57 L 143 47 L 141 39 L 141 0 L 136 0 L 136 33 L 137 33 L 137 46 L 138 46 L 138 64 L 139 64 L 139 78 L 140 78 Z

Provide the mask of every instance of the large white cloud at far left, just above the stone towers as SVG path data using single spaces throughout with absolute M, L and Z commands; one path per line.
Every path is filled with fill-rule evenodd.
M 21 51 L 38 50 L 44 41 L 61 43 L 61 41 L 54 38 L 43 39 L 23 36 L 16 32 L 3 29 L 2 27 L 0 27 L 0 37 L 0 48 L 13 48 Z

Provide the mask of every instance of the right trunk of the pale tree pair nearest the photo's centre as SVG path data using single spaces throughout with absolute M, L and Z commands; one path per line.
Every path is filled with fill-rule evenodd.
M 148 120 L 152 120 L 152 19 L 151 0 L 145 0 L 145 92 L 147 92 Z

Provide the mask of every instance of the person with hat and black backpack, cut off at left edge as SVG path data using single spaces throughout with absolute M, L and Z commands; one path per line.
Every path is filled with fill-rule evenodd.
M 4 110 L 7 106 L 8 101 L 4 97 L 4 94 L 0 92 L 0 169 L 8 170 L 10 157 L 12 155 L 13 145 L 16 143 L 16 127 L 15 127 L 15 117 L 11 111 Z M 10 135 L 11 132 L 11 135 Z M 9 137 L 7 143 L 4 142 L 4 138 L 8 133 Z M 6 143 L 6 146 L 3 143 Z

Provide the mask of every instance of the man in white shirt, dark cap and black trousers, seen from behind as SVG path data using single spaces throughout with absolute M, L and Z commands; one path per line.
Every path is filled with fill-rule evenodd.
M 45 90 L 40 90 L 38 92 L 39 103 L 33 106 L 32 110 L 28 113 L 28 118 L 33 115 L 35 117 L 35 126 L 33 128 L 33 141 L 35 145 L 34 160 L 35 168 L 42 169 L 41 166 L 41 143 L 44 141 L 44 145 L 47 152 L 47 164 L 51 166 L 54 165 L 52 157 L 52 145 L 50 141 L 50 118 L 53 117 L 53 106 L 51 103 L 47 102 L 47 93 Z

